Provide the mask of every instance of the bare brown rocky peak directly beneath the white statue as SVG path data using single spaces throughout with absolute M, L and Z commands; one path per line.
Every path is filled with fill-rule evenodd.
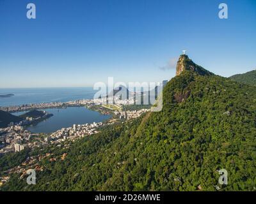
M 177 62 L 176 66 L 176 76 L 179 76 L 180 73 L 182 73 L 182 71 L 184 70 L 195 71 L 199 75 L 214 75 L 210 71 L 202 68 L 202 66 L 199 66 L 191 61 L 188 55 L 180 55 L 179 61 Z

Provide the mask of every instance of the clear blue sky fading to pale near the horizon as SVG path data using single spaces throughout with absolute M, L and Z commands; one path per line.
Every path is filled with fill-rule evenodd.
M 183 49 L 223 77 L 256 68 L 255 0 L 0 0 L 0 27 L 0 88 L 161 82 Z

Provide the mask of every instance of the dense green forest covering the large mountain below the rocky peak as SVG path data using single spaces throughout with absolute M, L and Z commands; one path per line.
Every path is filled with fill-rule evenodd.
M 36 185 L 12 175 L 2 190 L 255 190 L 256 90 L 196 70 L 186 66 L 166 84 L 161 112 L 106 126 L 68 149 L 30 152 L 50 152 L 56 161 L 46 157 L 38 163 L 43 170 L 36 171 Z M 0 166 L 17 165 L 14 156 L 22 161 L 28 152 L 3 156 Z M 223 186 L 218 184 L 221 169 L 228 172 Z

